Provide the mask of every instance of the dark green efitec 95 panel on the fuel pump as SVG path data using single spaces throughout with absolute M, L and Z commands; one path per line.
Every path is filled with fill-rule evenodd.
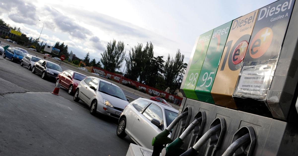
M 195 87 L 195 93 L 197 94 L 199 101 L 214 104 L 210 92 L 229 35 L 231 24 L 232 21 L 229 21 L 213 30 L 202 70 Z

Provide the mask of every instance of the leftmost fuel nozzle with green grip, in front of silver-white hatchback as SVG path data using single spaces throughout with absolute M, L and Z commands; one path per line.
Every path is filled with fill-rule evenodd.
M 179 121 L 186 117 L 189 114 L 189 110 L 178 115 L 173 122 L 162 132 L 160 132 L 156 137 L 152 139 L 153 153 L 152 156 L 159 156 L 161 150 L 164 148 L 164 145 L 171 143 L 172 140 L 167 137 L 170 134 L 170 131 L 174 128 L 174 126 L 179 123 Z

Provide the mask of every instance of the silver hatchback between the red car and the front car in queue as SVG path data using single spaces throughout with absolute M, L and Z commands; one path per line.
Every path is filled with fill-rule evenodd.
M 78 84 L 74 101 L 79 100 L 90 106 L 92 115 L 99 112 L 113 118 L 120 117 L 129 101 L 120 87 L 96 77 L 87 77 Z

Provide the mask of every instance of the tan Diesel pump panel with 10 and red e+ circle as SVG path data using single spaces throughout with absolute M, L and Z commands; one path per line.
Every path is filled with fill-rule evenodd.
M 215 104 L 236 109 L 232 98 L 258 10 L 235 19 L 221 56 L 211 95 Z

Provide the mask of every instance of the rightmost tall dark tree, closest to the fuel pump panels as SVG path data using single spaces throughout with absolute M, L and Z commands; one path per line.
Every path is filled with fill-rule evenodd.
M 179 72 L 183 68 L 184 55 L 180 53 L 180 49 L 177 50 L 175 58 L 171 58 L 168 55 L 167 61 L 164 65 L 164 80 L 165 85 L 170 87 L 170 93 L 175 94 L 177 89 L 177 78 Z

